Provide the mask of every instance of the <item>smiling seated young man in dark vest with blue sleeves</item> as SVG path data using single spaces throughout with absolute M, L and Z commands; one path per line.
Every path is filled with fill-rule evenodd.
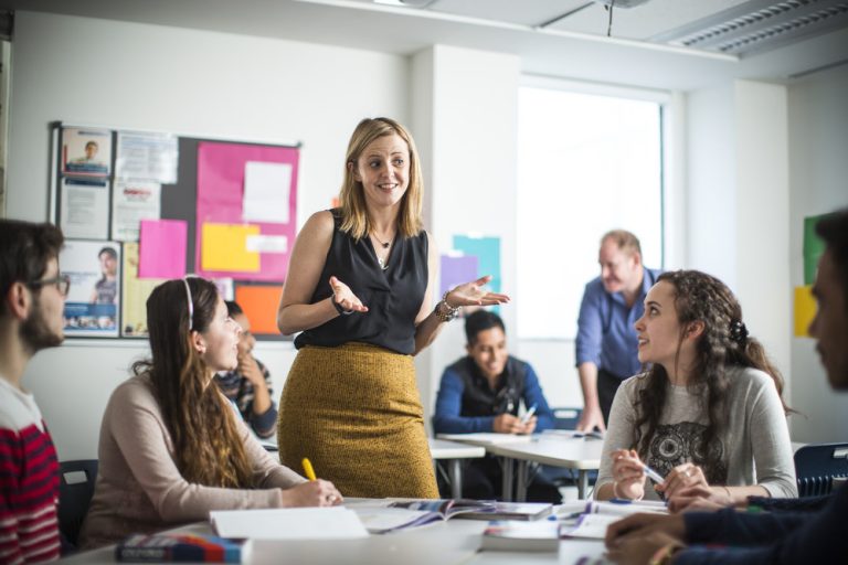
M 465 320 L 468 355 L 445 369 L 433 416 L 435 434 L 532 434 L 553 427 L 553 413 L 539 386 L 533 367 L 507 351 L 504 321 L 496 313 L 477 310 Z M 522 420 L 519 403 L 536 413 Z M 494 457 L 471 459 L 463 475 L 463 495 L 495 499 L 501 492 L 502 472 Z M 528 488 L 528 500 L 559 503 L 560 492 L 541 475 Z

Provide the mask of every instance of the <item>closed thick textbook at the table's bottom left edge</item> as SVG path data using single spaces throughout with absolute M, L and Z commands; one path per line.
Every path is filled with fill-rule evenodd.
M 247 540 L 197 534 L 136 534 L 115 547 L 115 559 L 129 563 L 245 563 Z

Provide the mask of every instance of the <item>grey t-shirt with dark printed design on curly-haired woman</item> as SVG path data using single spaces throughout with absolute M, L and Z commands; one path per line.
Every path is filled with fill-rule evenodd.
M 719 429 L 719 444 L 713 448 L 719 450 L 719 463 L 703 469 L 707 481 L 729 487 L 759 484 L 772 497 L 797 497 L 789 430 L 774 381 L 755 369 L 732 367 L 728 376 L 727 423 Z M 635 406 L 646 382 L 645 374 L 632 376 L 615 395 L 595 493 L 613 482 L 611 454 L 636 449 Z M 645 461 L 664 477 L 678 465 L 702 459 L 697 438 L 708 422 L 706 398 L 697 388 L 667 386 L 666 407 Z M 645 498 L 658 498 L 650 481 L 645 486 Z

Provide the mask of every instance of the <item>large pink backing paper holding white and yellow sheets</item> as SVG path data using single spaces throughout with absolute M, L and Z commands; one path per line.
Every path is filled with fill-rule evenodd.
M 295 211 L 297 203 L 298 150 L 292 147 L 219 143 L 198 145 L 198 214 L 197 226 L 206 222 L 241 224 L 244 195 L 244 169 L 247 161 L 288 163 L 292 166 L 292 186 L 288 193 L 289 223 L 251 222 L 259 226 L 261 235 L 284 235 L 288 238 L 285 253 L 261 253 L 259 271 L 203 270 L 201 264 L 201 230 L 195 228 L 194 265 L 198 275 L 206 278 L 235 278 L 240 280 L 285 280 L 288 259 L 295 241 Z

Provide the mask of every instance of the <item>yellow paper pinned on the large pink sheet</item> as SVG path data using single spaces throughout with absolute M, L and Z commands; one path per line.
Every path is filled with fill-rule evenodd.
M 201 265 L 203 270 L 258 273 L 259 254 L 247 250 L 247 237 L 259 235 L 250 224 L 203 224 Z

